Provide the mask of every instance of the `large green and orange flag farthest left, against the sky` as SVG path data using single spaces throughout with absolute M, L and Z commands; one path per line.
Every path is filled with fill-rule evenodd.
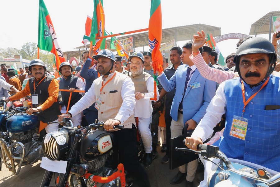
M 59 70 L 59 65 L 66 61 L 58 45 L 54 25 L 43 0 L 39 0 L 38 48 L 55 55 L 57 70 Z

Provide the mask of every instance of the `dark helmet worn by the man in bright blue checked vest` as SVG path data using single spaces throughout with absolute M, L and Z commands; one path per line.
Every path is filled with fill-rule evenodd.
M 277 57 L 273 44 L 269 40 L 262 37 L 249 38 L 238 47 L 236 51 L 236 55 L 234 56 L 233 59 L 233 62 L 236 64 L 235 65 L 236 70 L 243 81 L 244 79 L 241 77 L 240 69 L 239 69 L 240 56 L 248 55 L 248 54 L 256 54 L 256 53 L 264 53 L 264 54 L 268 54 L 269 56 L 269 60 L 270 60 L 269 70 L 264 80 L 266 80 L 269 74 L 271 74 L 274 70 Z

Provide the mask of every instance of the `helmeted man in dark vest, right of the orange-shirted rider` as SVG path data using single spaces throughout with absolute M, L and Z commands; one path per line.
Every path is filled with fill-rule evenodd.
M 68 62 L 63 62 L 59 65 L 59 72 L 62 74 L 63 79 L 59 81 L 59 89 L 67 89 L 72 92 L 72 96 L 69 103 L 69 110 L 71 107 L 77 103 L 83 96 L 84 93 L 74 92 L 74 90 L 85 90 L 85 84 L 83 80 L 72 74 L 73 68 Z M 70 92 L 62 91 L 62 103 L 65 105 L 65 109 L 68 107 L 68 102 L 70 98 Z M 63 111 L 62 111 L 63 113 Z M 66 113 L 66 111 L 64 112 Z M 83 113 L 78 113 L 76 116 L 72 117 L 72 122 L 75 127 L 81 125 Z

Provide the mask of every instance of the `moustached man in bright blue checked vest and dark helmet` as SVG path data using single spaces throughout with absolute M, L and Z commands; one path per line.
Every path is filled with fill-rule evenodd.
M 194 53 L 205 44 L 204 38 L 200 32 L 194 36 Z M 280 78 L 271 75 L 275 62 L 276 53 L 270 41 L 261 37 L 244 41 L 234 57 L 240 77 L 220 84 L 192 137 L 186 138 L 186 146 L 196 150 L 198 144 L 211 137 L 212 128 L 226 113 L 223 137 L 213 145 L 229 158 L 280 172 Z M 208 164 L 204 166 L 200 186 L 207 186 L 211 170 Z

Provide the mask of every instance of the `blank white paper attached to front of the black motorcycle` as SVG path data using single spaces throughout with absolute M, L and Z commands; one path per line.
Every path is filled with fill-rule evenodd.
M 65 174 L 67 161 L 51 161 L 47 157 L 43 156 L 40 167 L 48 171 Z

